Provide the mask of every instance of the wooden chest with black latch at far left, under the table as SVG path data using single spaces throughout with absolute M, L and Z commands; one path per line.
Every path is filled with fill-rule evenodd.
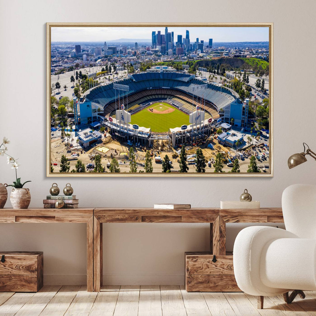
M 0 252 L 0 292 L 37 292 L 43 286 L 43 252 Z

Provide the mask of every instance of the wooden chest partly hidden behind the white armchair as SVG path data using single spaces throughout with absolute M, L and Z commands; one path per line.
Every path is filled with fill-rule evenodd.
M 237 286 L 233 254 L 214 256 L 210 252 L 185 252 L 185 289 L 188 292 L 241 292 Z

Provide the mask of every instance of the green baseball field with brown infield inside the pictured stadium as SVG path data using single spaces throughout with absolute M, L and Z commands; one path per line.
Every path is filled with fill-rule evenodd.
M 153 132 L 167 132 L 169 128 L 189 125 L 189 115 L 168 103 L 157 102 L 131 116 L 131 124 L 151 128 Z

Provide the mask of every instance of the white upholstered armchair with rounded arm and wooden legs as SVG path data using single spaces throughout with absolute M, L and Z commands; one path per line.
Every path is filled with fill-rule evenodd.
M 286 230 L 247 227 L 234 244 L 237 284 L 258 296 L 258 308 L 263 308 L 264 296 L 283 294 L 291 303 L 298 294 L 305 297 L 302 290 L 316 290 L 316 186 L 287 187 L 282 210 Z

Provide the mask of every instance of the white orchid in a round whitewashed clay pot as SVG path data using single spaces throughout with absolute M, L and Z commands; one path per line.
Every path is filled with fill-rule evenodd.
M 17 169 L 20 166 L 20 163 L 17 162 L 18 159 L 14 159 L 11 155 L 7 153 L 8 148 L 6 145 L 9 143 L 10 143 L 9 139 L 6 137 L 3 137 L 2 144 L 0 145 L 0 156 L 7 155 L 8 165 L 11 165 L 11 169 L 15 169 L 16 180 L 13 181 L 13 184 L 8 185 L 8 186 L 12 186 L 10 201 L 14 209 L 27 209 L 31 202 L 31 194 L 30 194 L 30 190 L 27 188 L 23 188 L 23 186 L 27 182 L 31 182 L 31 181 L 25 181 L 24 183 L 21 183 L 21 178 L 18 178 Z

